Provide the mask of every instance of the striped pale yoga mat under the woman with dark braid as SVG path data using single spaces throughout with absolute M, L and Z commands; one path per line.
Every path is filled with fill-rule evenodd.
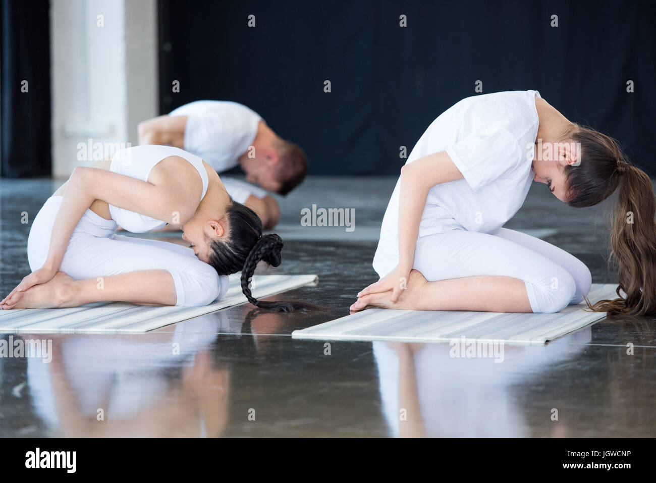
M 223 299 L 201 307 L 100 302 L 73 308 L 0 310 L 0 332 L 146 332 L 247 302 L 241 293 L 240 276 L 230 276 L 230 287 Z M 317 280 L 316 275 L 255 275 L 251 287 L 253 296 L 260 299 L 316 284 Z

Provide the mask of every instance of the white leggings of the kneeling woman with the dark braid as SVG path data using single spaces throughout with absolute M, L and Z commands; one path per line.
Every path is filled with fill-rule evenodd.
M 62 203 L 49 198 L 35 217 L 28 238 L 30 269 L 43 266 L 48 255 L 52 225 Z M 167 270 L 173 277 L 176 305 L 207 305 L 228 290 L 228 277 L 219 276 L 188 247 L 176 243 L 115 234 L 117 224 L 87 210 L 75 227 L 60 270 L 76 280 L 108 277 L 136 270 Z

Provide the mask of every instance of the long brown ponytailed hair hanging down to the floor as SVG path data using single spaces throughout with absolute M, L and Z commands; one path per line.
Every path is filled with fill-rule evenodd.
M 608 257 L 609 264 L 617 261 L 618 298 L 590 305 L 586 297 L 586 304 L 609 315 L 656 314 L 656 197 L 651 179 L 626 161 L 613 138 L 576 124 L 569 137 L 581 146 L 581 163 L 565 167 L 570 206 L 596 205 L 619 186 Z

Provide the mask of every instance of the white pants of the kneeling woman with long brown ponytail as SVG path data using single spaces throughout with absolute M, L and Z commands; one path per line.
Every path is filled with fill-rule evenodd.
M 397 257 L 398 259 L 398 257 Z M 374 259 L 385 276 L 394 266 Z M 415 270 L 428 280 L 497 275 L 523 280 L 533 312 L 559 312 L 583 301 L 592 285 L 590 270 L 551 243 L 499 228 L 491 233 L 450 230 L 422 236 L 415 249 Z

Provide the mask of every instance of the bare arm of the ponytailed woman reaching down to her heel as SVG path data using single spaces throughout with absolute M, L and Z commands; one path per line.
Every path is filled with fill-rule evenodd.
M 429 154 L 401 168 L 399 193 L 399 264 L 379 282 L 369 285 L 358 297 L 369 293 L 392 291 L 391 300 L 398 300 L 415 263 L 415 245 L 419 222 L 426 206 L 428 190 L 436 184 L 462 178 L 461 171 L 445 151 Z

